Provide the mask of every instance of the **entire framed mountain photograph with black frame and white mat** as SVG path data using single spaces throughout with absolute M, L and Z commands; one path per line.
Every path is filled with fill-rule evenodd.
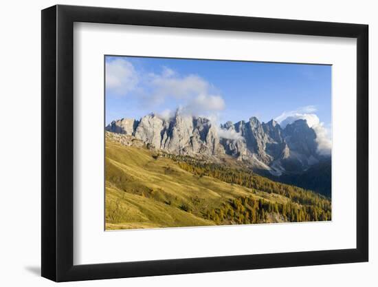
M 42 276 L 368 261 L 368 25 L 42 11 Z

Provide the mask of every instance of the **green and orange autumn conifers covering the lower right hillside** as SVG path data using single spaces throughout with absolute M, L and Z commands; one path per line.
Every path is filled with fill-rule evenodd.
M 196 176 L 209 176 L 231 184 L 267 193 L 276 193 L 289 199 L 287 204 L 254 200 L 253 198 L 237 198 L 225 202 L 219 209 L 205 212 L 204 217 L 219 224 L 234 222 L 236 224 L 261 223 L 274 220 L 289 222 L 308 222 L 331 220 L 331 199 L 324 195 L 281 182 L 274 182 L 258 176 L 248 169 L 235 169 L 214 162 L 201 162 L 189 156 L 169 157 L 181 169 Z M 280 217 L 277 217 L 280 215 Z

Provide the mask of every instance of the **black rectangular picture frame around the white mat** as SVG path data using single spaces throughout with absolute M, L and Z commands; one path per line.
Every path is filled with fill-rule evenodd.
M 74 265 L 74 22 L 357 39 L 357 248 Z M 41 39 L 43 277 L 77 281 L 368 261 L 368 25 L 58 5 L 42 11 Z

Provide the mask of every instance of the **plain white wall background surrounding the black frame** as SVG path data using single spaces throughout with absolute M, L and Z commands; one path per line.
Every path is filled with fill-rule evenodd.
M 378 18 L 375 1 L 64 1 L 61 4 L 172 10 L 255 17 L 367 23 L 370 25 L 370 262 L 332 266 L 113 279 L 65 286 L 377 286 L 378 277 Z M 1 5 L 0 140 L 2 286 L 52 286 L 41 270 L 41 12 L 55 1 Z M 374 182 L 373 182 L 374 181 Z

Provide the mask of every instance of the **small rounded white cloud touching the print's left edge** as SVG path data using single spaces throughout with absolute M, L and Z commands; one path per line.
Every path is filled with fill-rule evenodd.
M 105 70 L 107 93 L 125 96 L 137 87 L 137 72 L 126 59 L 120 58 L 107 62 Z

